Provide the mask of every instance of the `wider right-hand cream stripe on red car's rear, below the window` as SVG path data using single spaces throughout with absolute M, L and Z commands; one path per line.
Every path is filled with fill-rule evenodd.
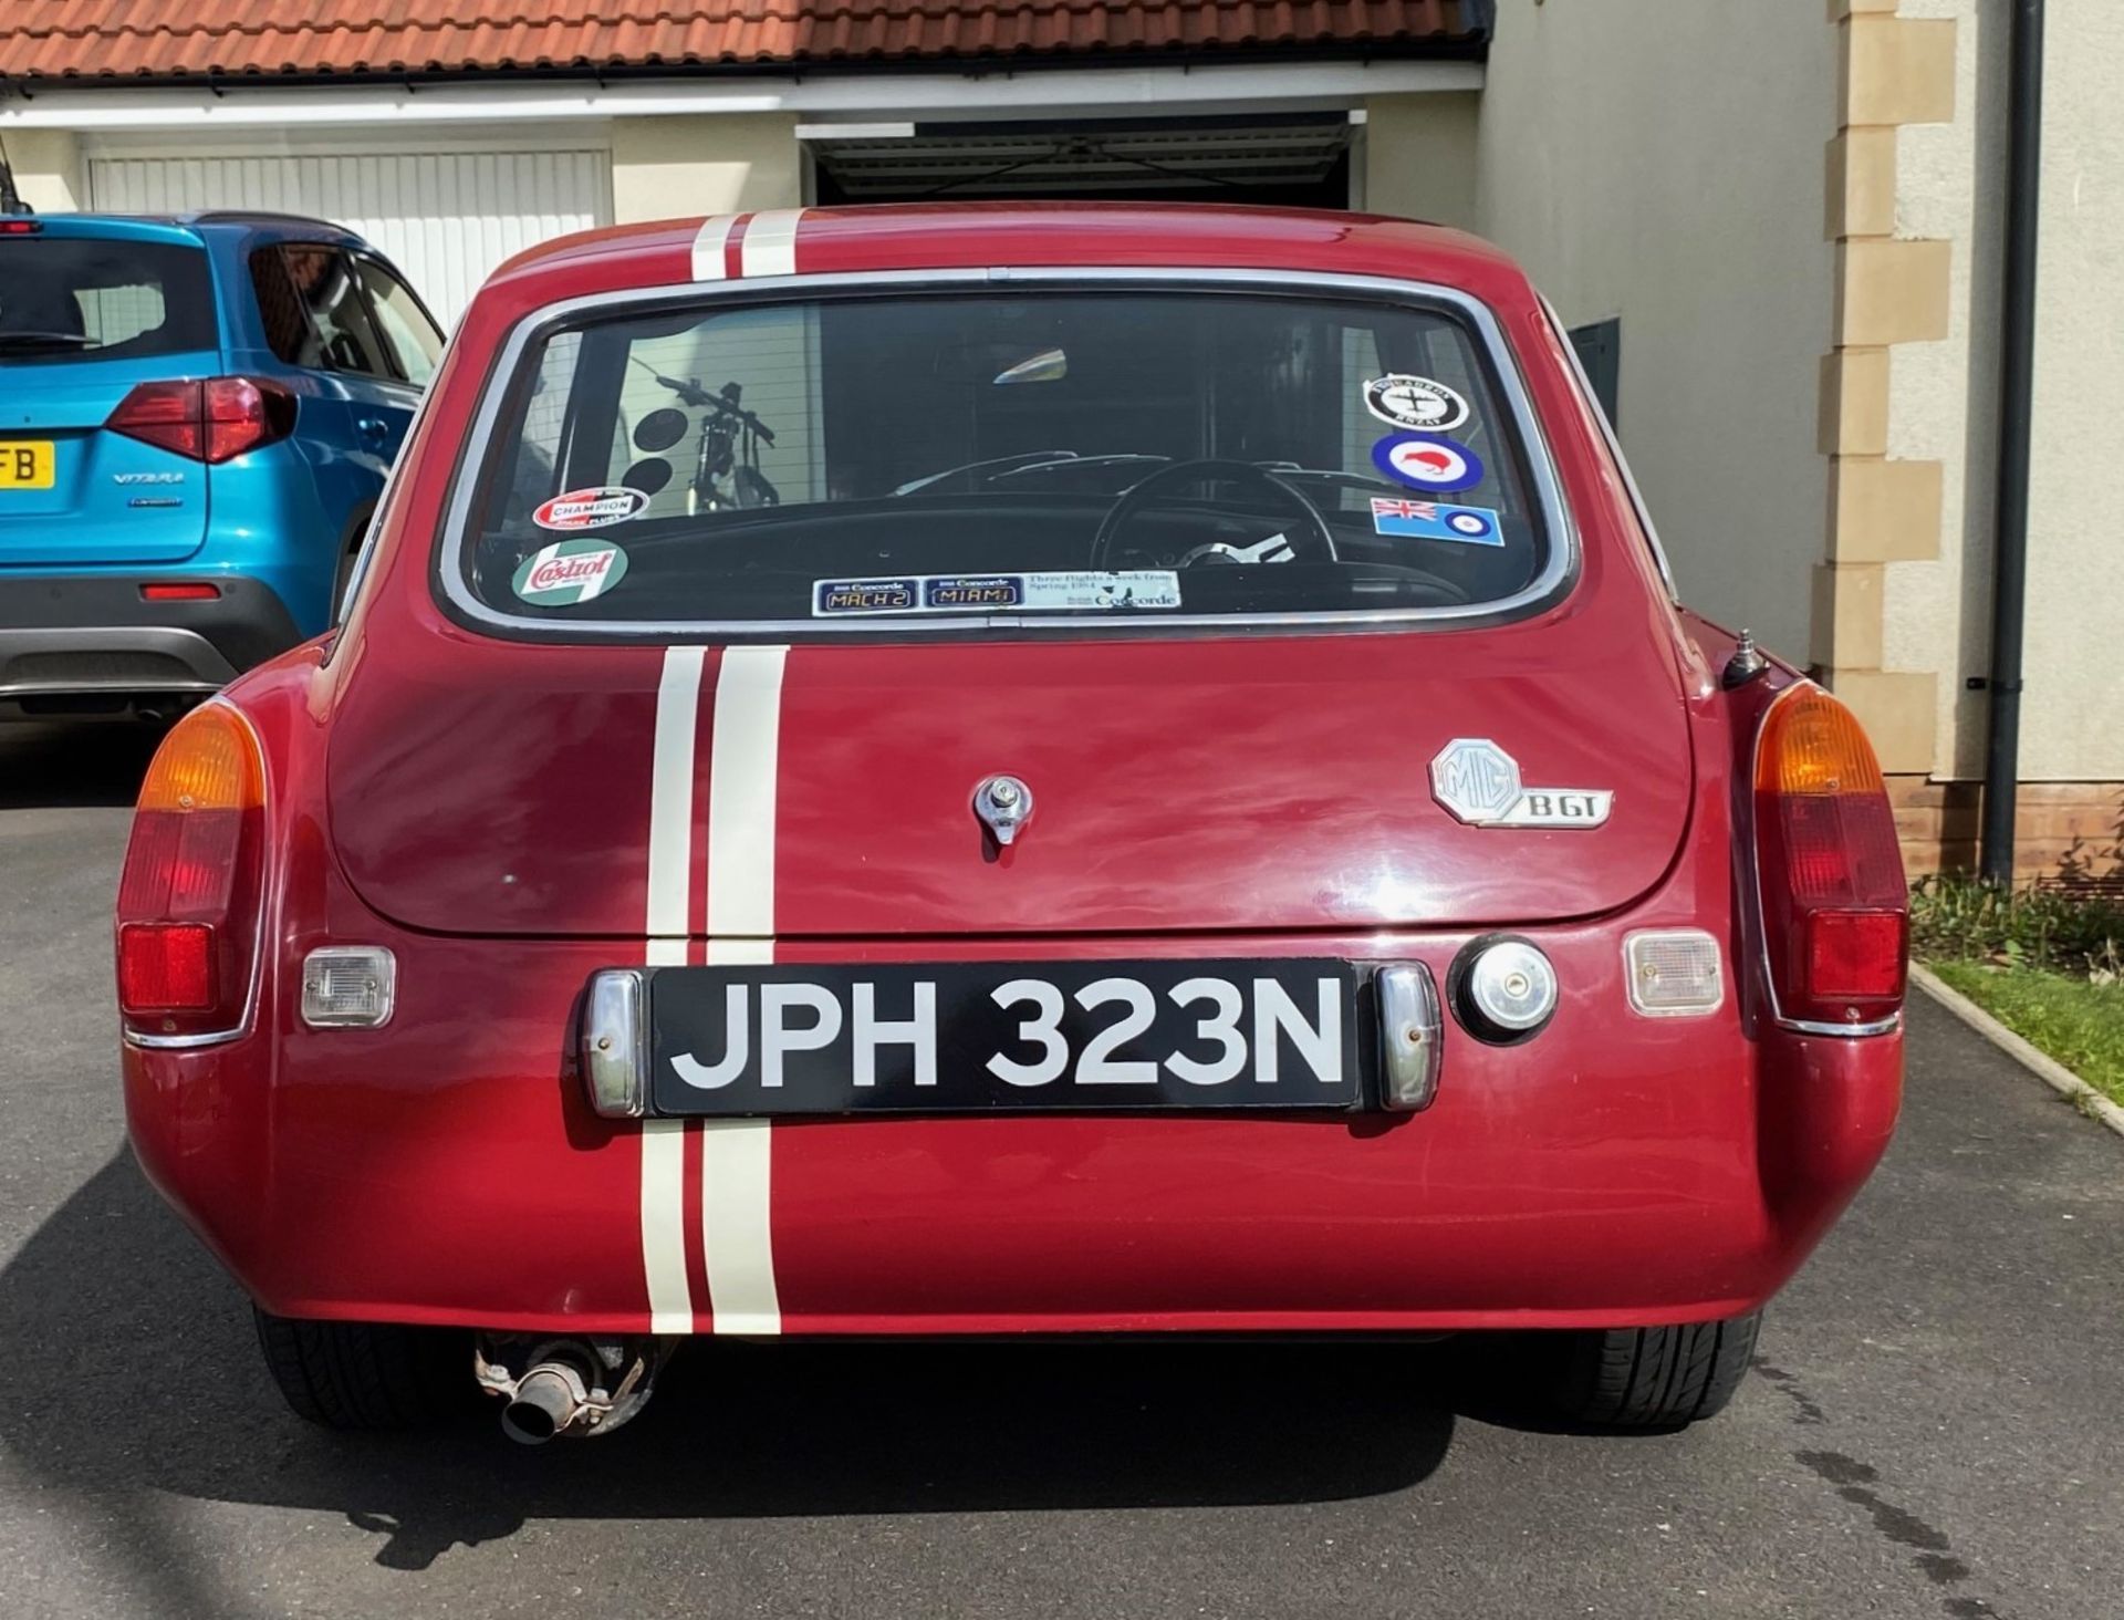
M 707 767 L 709 963 L 775 959 L 775 789 L 786 659 L 786 646 L 733 646 L 722 655 Z M 716 1333 L 782 1331 L 769 1220 L 771 1148 L 769 1120 L 701 1123 L 701 1244 Z

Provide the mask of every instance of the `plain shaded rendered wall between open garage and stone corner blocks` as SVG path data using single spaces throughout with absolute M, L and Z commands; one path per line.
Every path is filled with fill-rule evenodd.
M 1570 325 L 1623 321 L 1621 438 L 1682 597 L 1797 661 L 1835 104 L 1820 0 L 1500 0 L 1476 136 L 1476 230 Z

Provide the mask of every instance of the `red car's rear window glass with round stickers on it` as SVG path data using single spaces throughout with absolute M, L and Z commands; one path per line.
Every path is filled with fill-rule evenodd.
M 1468 315 L 1187 289 L 720 302 L 501 378 L 461 597 L 559 623 L 966 629 L 1472 610 L 1542 583 Z

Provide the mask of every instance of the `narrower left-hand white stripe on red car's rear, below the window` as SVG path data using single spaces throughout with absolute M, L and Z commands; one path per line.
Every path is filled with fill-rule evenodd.
M 686 889 L 692 870 L 692 755 L 701 714 L 703 648 L 665 651 L 650 755 L 648 965 L 686 961 Z M 641 1271 L 650 1333 L 692 1333 L 686 1284 L 686 1123 L 641 1123 Z

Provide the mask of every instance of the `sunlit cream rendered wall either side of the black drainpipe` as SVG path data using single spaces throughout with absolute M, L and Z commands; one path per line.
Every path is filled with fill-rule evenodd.
M 2043 213 L 2028 512 L 2024 780 L 2124 780 L 2124 4 L 2050 0 Z M 1897 227 L 1952 238 L 1943 342 L 1895 351 L 1890 455 L 1946 468 L 1937 561 L 1886 574 L 1888 668 L 1937 672 L 1937 776 L 1984 772 L 1992 500 L 1999 434 L 1999 253 L 2005 208 L 2007 6 L 1903 0 L 1952 17 L 1956 117 L 1903 130 Z

